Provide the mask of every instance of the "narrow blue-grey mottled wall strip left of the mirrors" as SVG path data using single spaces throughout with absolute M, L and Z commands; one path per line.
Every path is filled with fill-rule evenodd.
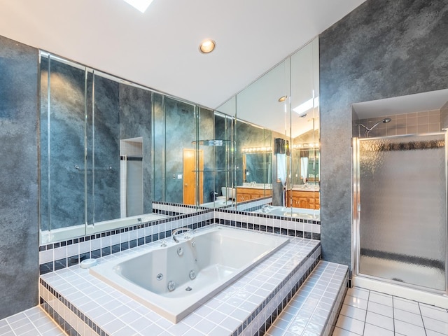
M 0 318 L 38 304 L 37 59 L 0 36 Z

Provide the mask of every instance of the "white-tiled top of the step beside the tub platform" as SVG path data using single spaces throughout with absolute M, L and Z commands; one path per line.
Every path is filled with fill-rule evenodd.
M 319 262 L 265 335 L 331 335 L 347 279 L 346 265 Z

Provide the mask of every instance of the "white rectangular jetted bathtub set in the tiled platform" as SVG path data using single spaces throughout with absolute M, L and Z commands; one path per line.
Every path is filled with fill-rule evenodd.
M 178 323 L 289 241 L 222 225 L 197 230 L 189 240 L 182 238 L 184 234 L 177 237 L 179 243 L 170 237 L 161 247 L 158 241 L 136 255 L 102 262 L 90 273 Z M 168 290 L 169 281 L 176 283 L 176 289 Z

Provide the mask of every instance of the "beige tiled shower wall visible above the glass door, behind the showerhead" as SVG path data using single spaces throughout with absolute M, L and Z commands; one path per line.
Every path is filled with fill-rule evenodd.
M 440 132 L 440 130 L 442 130 L 440 127 L 441 111 L 442 110 L 421 111 L 356 120 L 355 125 L 353 125 L 353 137 L 364 137 L 365 129 L 359 127 L 358 130 L 358 124 L 363 124 L 370 128 L 384 118 L 391 118 L 391 121 L 389 123 L 379 123 L 377 127 L 369 132 L 370 138 Z

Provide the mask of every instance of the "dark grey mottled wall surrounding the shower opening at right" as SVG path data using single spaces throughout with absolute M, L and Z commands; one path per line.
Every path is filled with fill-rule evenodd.
M 321 242 L 351 264 L 351 110 L 448 87 L 448 2 L 367 0 L 320 37 Z

